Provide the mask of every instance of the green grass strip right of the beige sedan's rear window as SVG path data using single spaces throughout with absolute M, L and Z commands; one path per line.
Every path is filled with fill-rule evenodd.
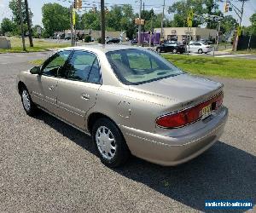
M 256 78 L 256 60 L 213 58 L 193 55 L 163 56 L 186 72 L 226 78 Z

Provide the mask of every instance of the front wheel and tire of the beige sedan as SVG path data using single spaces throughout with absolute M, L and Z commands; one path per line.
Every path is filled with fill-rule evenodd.
M 29 92 L 26 89 L 26 87 L 22 87 L 21 92 L 20 92 L 20 96 L 21 96 L 22 106 L 23 106 L 26 114 L 29 115 L 29 116 L 35 115 L 38 108 L 33 103 L 32 99 L 31 99 L 31 96 L 29 95 Z

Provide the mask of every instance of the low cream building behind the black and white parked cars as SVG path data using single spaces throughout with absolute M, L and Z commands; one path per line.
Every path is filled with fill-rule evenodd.
M 155 28 L 155 32 L 160 32 L 161 28 Z M 190 35 L 189 40 L 198 41 L 201 39 L 212 40 L 215 39 L 217 30 L 207 29 L 201 27 L 164 27 L 163 37 L 165 40 L 177 40 L 179 42 L 186 39 Z

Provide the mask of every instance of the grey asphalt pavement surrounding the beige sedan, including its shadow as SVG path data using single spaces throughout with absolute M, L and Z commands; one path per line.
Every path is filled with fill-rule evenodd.
M 205 211 L 205 199 L 255 204 L 255 80 L 213 78 L 224 83 L 230 118 L 200 157 L 177 167 L 134 157 L 112 170 L 79 130 L 45 112 L 24 112 L 16 75 L 47 55 L 0 55 L 0 212 L 195 212 Z

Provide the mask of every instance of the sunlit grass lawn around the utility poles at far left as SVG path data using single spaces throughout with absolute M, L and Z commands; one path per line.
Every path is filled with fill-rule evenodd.
M 0 53 L 21 53 L 24 52 L 22 49 L 22 40 L 21 37 L 9 37 L 11 42 L 11 49 L 0 49 Z M 29 40 L 26 37 L 26 51 L 27 52 L 41 52 L 46 51 L 47 49 L 55 49 L 55 48 L 65 48 L 69 47 L 70 43 L 51 43 L 45 41 L 44 39 L 33 38 L 34 47 L 29 47 Z

